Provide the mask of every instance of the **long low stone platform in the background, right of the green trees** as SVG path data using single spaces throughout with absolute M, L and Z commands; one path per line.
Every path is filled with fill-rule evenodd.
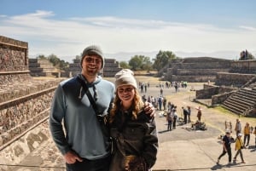
M 230 60 L 211 57 L 172 60 L 161 71 L 163 80 L 170 82 L 215 82 L 219 71 L 230 71 Z

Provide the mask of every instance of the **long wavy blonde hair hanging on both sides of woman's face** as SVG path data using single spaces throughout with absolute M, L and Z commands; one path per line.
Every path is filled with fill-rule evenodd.
M 141 109 L 143 108 L 143 100 L 140 96 L 140 94 L 137 91 L 137 88 L 134 88 L 135 94 L 132 100 L 132 112 L 131 112 L 131 119 L 132 120 L 136 120 L 137 119 L 137 114 L 139 113 L 139 111 L 141 111 Z M 117 92 L 116 92 L 117 94 Z M 114 100 L 113 100 L 113 108 L 110 111 L 110 117 L 109 117 L 109 123 L 113 123 L 113 119 L 114 116 L 116 114 L 116 111 L 118 111 L 119 106 L 121 105 L 121 100 L 119 99 L 119 96 L 116 95 Z

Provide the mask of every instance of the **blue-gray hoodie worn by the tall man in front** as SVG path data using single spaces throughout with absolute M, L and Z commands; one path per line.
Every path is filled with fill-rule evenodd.
M 81 74 L 77 77 L 86 83 Z M 114 98 L 113 83 L 98 76 L 94 83 L 86 84 L 92 96 L 97 94 L 98 110 L 108 112 Z M 79 157 L 90 160 L 109 155 L 108 137 L 103 137 L 95 111 L 76 77 L 61 82 L 56 88 L 49 115 L 49 128 L 63 155 L 67 151 L 75 151 Z

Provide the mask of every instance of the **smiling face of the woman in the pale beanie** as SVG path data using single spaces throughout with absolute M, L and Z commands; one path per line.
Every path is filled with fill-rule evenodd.
M 135 89 L 131 85 L 122 85 L 117 89 L 119 99 L 123 102 L 131 102 L 135 95 Z

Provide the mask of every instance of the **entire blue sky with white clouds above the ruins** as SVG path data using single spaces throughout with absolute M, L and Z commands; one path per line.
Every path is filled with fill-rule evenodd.
M 0 34 L 27 42 L 33 56 L 75 56 L 90 44 L 105 54 L 255 55 L 255 7 L 254 0 L 0 0 Z

